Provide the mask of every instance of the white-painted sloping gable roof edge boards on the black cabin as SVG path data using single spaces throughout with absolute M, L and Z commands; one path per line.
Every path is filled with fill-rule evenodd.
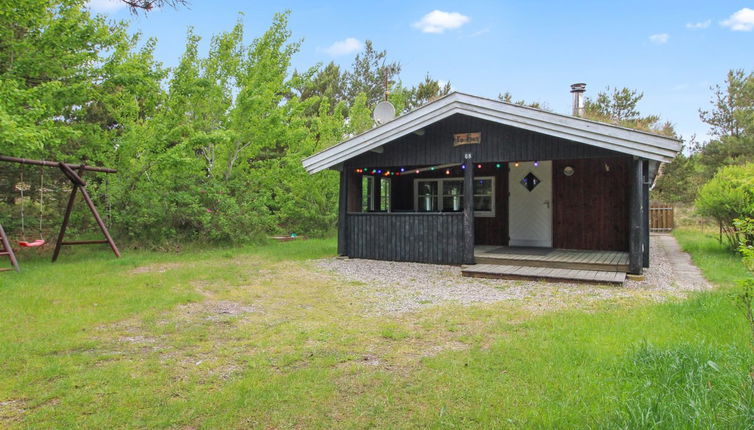
M 346 160 L 377 149 L 401 136 L 455 114 L 485 119 L 659 162 L 671 161 L 681 150 L 679 140 L 659 134 L 453 92 L 305 158 L 304 168 L 309 173 L 316 173 L 337 166 Z

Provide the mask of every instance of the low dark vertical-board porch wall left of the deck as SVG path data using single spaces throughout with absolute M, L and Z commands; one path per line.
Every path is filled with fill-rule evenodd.
M 463 213 L 349 213 L 352 258 L 461 264 Z

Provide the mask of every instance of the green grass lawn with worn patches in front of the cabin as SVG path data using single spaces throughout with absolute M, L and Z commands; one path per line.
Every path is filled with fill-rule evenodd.
M 370 316 L 307 261 L 332 240 L 22 261 L 0 274 L 0 427 L 752 428 L 751 275 L 676 236 L 718 289 L 544 314 Z

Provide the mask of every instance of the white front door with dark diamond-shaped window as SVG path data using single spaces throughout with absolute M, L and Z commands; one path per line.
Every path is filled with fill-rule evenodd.
M 552 247 L 552 161 L 508 166 L 509 245 Z

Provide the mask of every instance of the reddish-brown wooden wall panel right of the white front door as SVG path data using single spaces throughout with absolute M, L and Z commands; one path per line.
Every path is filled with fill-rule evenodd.
M 628 250 L 630 168 L 630 157 L 553 162 L 554 247 Z

